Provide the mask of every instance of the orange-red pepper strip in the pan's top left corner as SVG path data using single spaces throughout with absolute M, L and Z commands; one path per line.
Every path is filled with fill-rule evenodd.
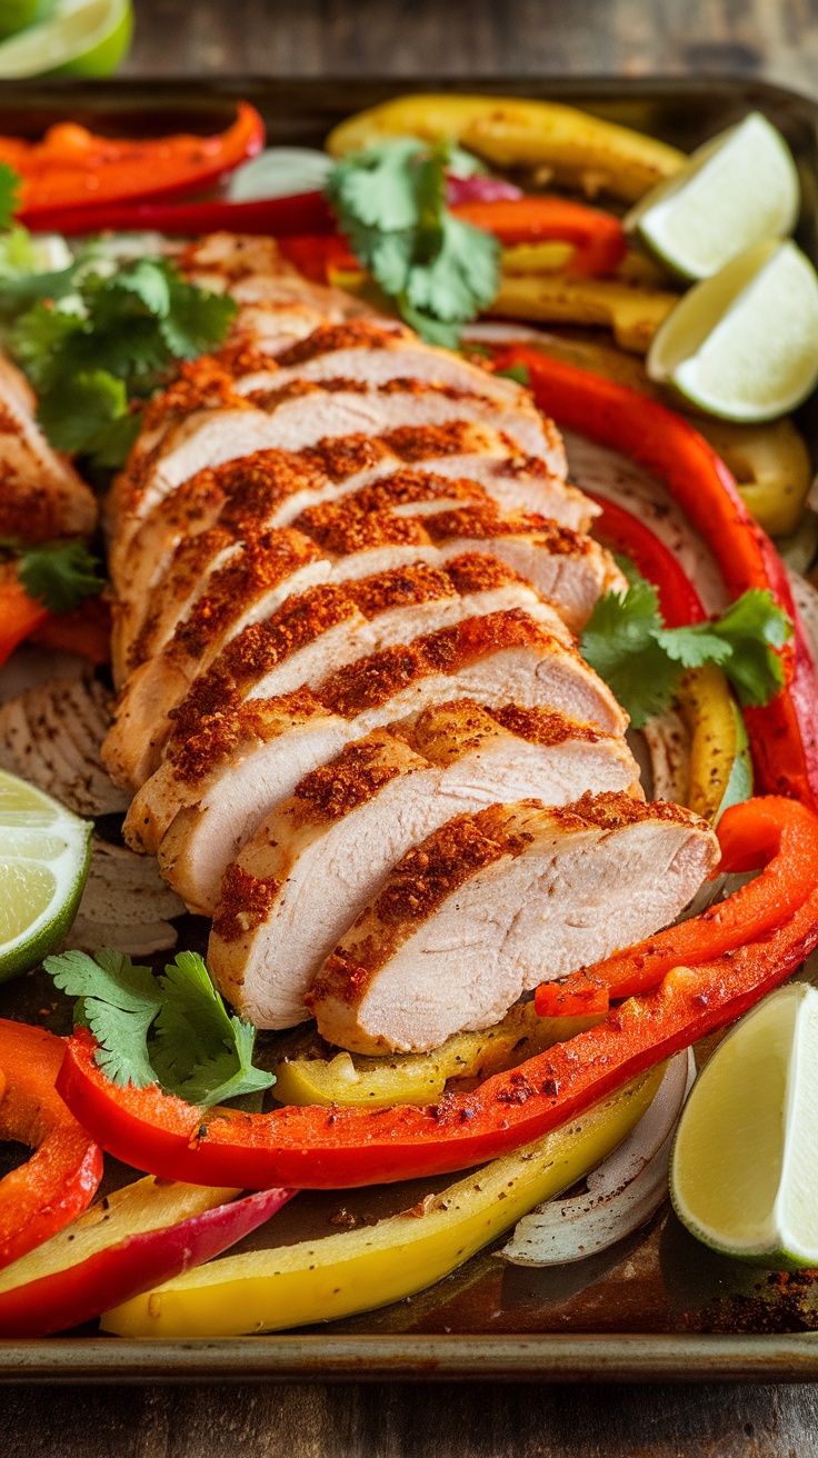
M 114 140 L 63 122 L 41 141 L 0 137 L 0 160 L 22 176 L 20 222 L 61 229 L 74 208 L 210 187 L 262 146 L 264 122 L 241 101 L 233 124 L 210 137 Z

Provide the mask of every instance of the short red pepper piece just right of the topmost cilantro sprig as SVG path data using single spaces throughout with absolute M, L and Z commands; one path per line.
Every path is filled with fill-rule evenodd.
M 483 227 L 502 243 L 573 243 L 566 273 L 609 274 L 627 252 L 618 217 L 561 197 L 502 198 L 491 203 L 458 203 L 452 213 L 472 227 Z

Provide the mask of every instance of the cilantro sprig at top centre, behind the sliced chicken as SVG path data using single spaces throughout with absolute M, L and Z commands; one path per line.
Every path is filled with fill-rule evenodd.
M 497 241 L 446 207 L 446 172 L 458 165 L 449 143 L 398 137 L 344 157 L 327 182 L 359 262 L 423 340 L 449 348 L 500 281 Z

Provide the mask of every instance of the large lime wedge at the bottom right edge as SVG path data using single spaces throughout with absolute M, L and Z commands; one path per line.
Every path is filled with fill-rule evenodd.
M 793 983 L 725 1038 L 685 1105 L 671 1159 L 679 1219 L 706 1245 L 818 1266 L 818 990 Z

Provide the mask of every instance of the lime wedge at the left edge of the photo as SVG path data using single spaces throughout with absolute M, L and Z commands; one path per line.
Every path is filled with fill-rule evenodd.
M 0 983 L 36 967 L 74 920 L 90 821 L 0 770 Z

